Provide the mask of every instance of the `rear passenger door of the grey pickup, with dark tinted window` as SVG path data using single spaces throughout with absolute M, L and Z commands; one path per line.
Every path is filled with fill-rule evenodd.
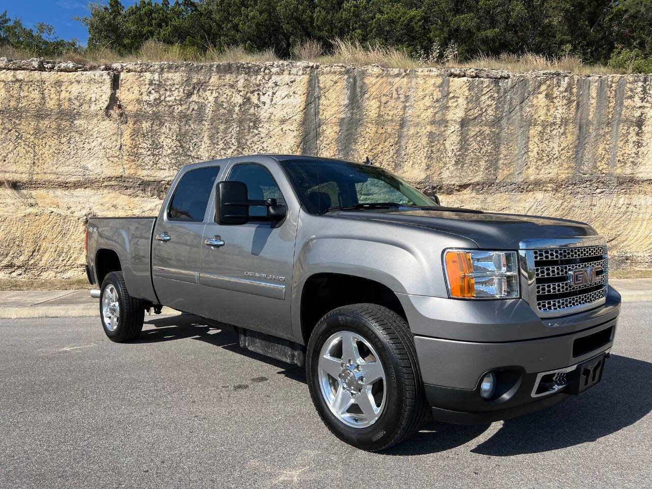
M 200 313 L 200 249 L 206 208 L 218 166 L 188 168 L 164 202 L 152 240 L 152 276 L 158 300 L 185 312 Z

